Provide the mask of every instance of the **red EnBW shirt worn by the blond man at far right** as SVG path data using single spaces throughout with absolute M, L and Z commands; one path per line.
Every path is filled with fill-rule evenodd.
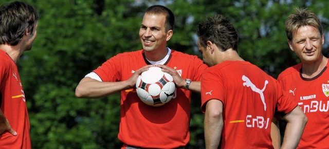
M 307 116 L 307 123 L 297 148 L 329 148 L 329 63 L 318 76 L 301 76 L 302 64 L 280 73 L 278 81 L 296 100 Z

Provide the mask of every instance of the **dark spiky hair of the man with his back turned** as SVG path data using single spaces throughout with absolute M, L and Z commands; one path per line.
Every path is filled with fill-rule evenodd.
M 217 14 L 206 18 L 197 28 L 199 44 L 207 46 L 207 41 L 211 41 L 218 48 L 226 51 L 229 48 L 237 51 L 239 35 L 233 24 L 225 15 Z

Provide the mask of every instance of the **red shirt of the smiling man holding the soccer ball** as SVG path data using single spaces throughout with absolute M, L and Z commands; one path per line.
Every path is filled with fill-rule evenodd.
M 103 82 L 124 81 L 135 70 L 149 65 L 143 50 L 120 53 L 94 70 Z M 195 55 L 171 51 L 165 65 L 176 69 L 181 78 L 199 81 L 207 68 Z M 191 91 L 176 88 L 170 102 L 159 107 L 143 103 L 136 88 L 122 90 L 118 138 L 127 145 L 143 148 L 175 148 L 189 139 Z

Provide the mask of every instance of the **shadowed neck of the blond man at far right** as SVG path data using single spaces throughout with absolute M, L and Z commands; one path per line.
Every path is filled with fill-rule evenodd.
M 313 78 L 317 76 L 327 65 L 328 58 L 321 57 L 314 63 L 302 63 L 302 76 L 304 78 Z

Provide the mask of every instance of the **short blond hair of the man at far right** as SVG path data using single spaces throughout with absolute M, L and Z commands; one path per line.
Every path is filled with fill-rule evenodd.
M 285 23 L 289 41 L 293 40 L 294 33 L 302 26 L 313 26 L 319 30 L 321 35 L 323 34 L 321 21 L 315 13 L 307 9 L 296 8 L 296 12 L 290 14 Z

